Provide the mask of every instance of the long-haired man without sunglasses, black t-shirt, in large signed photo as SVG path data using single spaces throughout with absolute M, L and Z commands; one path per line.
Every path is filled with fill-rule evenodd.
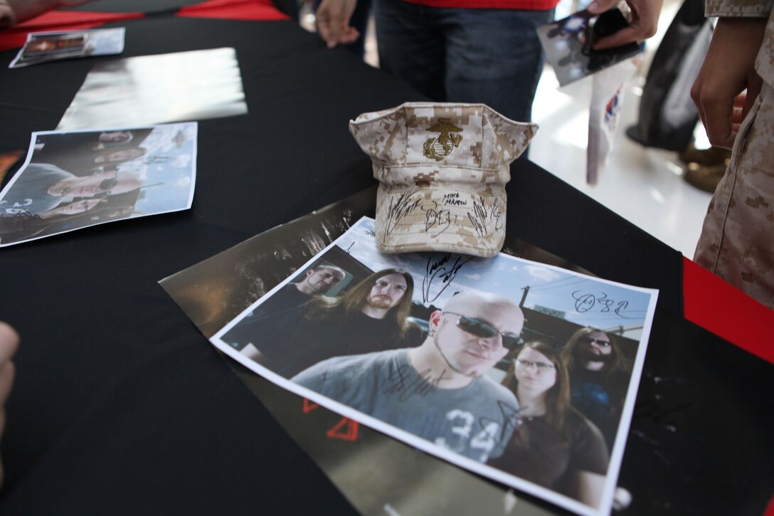
M 335 298 L 245 318 L 221 339 L 286 378 L 331 356 L 416 345 L 422 332 L 407 321 L 413 288 L 411 274 L 380 270 Z

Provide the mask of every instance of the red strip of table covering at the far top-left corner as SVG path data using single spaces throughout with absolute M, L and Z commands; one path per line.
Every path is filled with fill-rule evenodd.
M 105 23 L 143 16 L 142 12 L 49 11 L 17 26 L 0 30 L 0 51 L 21 48 L 29 33 L 94 29 Z

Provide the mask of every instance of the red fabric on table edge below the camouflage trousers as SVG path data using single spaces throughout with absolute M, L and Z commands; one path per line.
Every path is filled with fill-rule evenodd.
M 741 349 L 774 363 L 774 310 L 685 257 L 683 315 Z

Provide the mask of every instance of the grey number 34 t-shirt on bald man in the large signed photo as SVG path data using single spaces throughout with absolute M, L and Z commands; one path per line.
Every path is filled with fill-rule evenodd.
M 408 352 L 337 356 L 292 380 L 479 462 L 502 455 L 519 415 L 513 393 L 488 377 L 441 389 L 428 373 L 414 370 Z

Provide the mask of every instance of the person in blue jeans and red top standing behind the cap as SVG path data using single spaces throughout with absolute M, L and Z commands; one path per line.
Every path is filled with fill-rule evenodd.
M 631 24 L 599 40 L 596 50 L 656 33 L 663 0 L 628 0 Z M 488 105 L 509 119 L 529 122 L 543 49 L 536 29 L 553 20 L 559 0 L 377 0 L 379 66 L 433 101 Z M 600 14 L 614 0 L 596 0 Z M 323 0 L 317 30 L 327 46 L 358 38 L 350 25 L 357 0 Z

